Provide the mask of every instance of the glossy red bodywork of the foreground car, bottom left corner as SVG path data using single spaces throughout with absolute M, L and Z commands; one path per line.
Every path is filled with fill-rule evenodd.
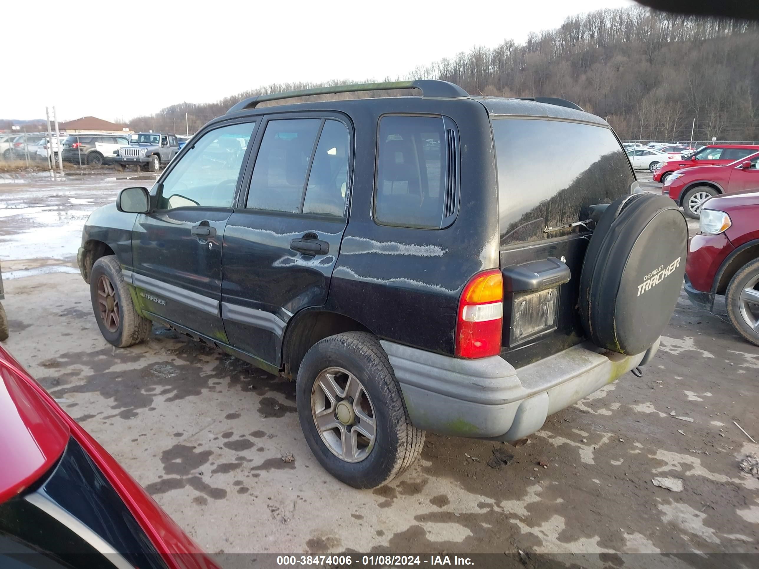
M 69 437 L 87 452 L 169 567 L 218 566 L 118 462 L 0 345 L 0 503 L 23 492 L 61 457 Z

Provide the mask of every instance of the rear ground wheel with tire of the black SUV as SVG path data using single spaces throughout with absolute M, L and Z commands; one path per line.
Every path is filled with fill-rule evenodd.
M 317 460 L 354 488 L 389 482 L 424 447 L 424 431 L 411 425 L 387 354 L 367 332 L 313 344 L 298 369 L 296 405 Z

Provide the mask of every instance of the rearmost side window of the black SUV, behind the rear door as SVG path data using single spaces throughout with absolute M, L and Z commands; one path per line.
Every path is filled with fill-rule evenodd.
M 442 117 L 379 120 L 374 218 L 382 225 L 440 229 L 455 218 L 458 143 Z

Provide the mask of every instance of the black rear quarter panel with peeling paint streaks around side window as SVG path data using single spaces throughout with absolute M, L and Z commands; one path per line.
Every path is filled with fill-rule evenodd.
M 380 99 L 382 100 L 382 99 Z M 327 308 L 392 341 L 453 354 L 458 299 L 477 272 L 498 267 L 493 137 L 478 102 L 384 99 L 350 108 L 355 128 L 351 210 Z M 437 114 L 459 134 L 461 198 L 446 229 L 379 225 L 373 219 L 376 137 L 383 114 Z

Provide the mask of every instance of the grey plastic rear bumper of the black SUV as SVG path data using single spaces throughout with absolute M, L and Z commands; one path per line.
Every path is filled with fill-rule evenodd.
M 411 423 L 442 435 L 515 441 L 656 353 L 624 356 L 579 344 L 520 369 L 499 356 L 461 360 L 382 341 Z

